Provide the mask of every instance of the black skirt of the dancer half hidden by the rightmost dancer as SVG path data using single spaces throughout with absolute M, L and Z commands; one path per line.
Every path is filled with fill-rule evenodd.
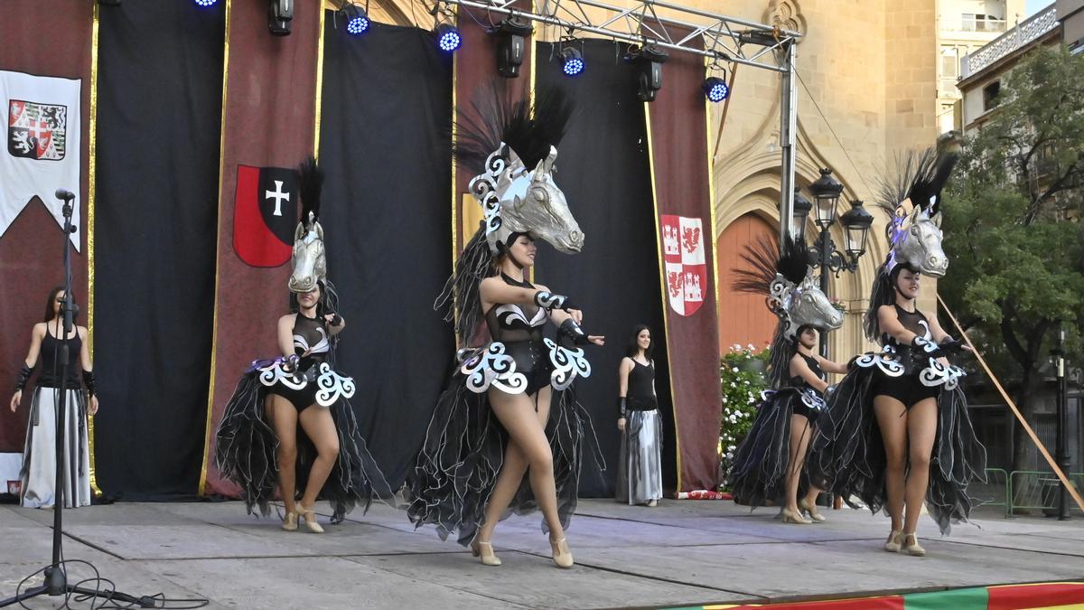
M 763 393 L 757 418 L 731 462 L 727 484 L 736 504 L 779 505 L 790 459 L 790 416 L 805 417 L 803 433 L 812 437 L 813 422 L 822 408 L 824 401 L 812 390 L 785 387 Z

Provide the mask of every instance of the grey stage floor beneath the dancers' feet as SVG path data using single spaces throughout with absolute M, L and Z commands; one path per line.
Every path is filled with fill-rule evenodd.
M 924 517 L 928 556 L 916 558 L 881 550 L 888 520 L 868 511 L 785 525 L 774 510 L 750 514 L 730 501 L 582 500 L 568 532 L 577 565 L 564 571 L 533 517 L 502 523 L 494 547 L 504 564 L 488 568 L 383 505 L 315 535 L 283 532 L 235 501 L 115 504 L 65 511 L 64 550 L 120 590 L 206 597 L 212 608 L 678 607 L 1084 577 L 1084 520 L 978 512 L 981 530 L 945 538 Z M 0 596 L 48 561 L 51 522 L 48 510 L 0 507 Z

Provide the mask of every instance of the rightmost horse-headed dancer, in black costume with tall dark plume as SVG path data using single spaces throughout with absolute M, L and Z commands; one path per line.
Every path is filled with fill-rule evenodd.
M 902 203 L 865 318 L 867 338 L 883 350 L 852 360 L 822 414 L 810 460 L 811 478 L 844 500 L 883 507 L 892 520 L 885 549 L 914 556 L 926 554 L 915 534 L 924 498 L 947 533 L 970 513 L 968 484 L 985 478 L 985 448 L 958 383 L 964 371 L 947 361 L 964 346 L 915 308 L 920 276 L 947 268 L 933 219 L 954 162 L 927 152 L 902 176 L 906 199 L 886 189 L 886 201 Z

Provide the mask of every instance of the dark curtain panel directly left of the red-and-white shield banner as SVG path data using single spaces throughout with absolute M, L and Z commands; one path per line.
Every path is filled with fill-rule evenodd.
M 537 279 L 569 295 L 584 312 L 583 327 L 605 334 L 606 346 L 588 346 L 591 378 L 577 382 L 591 412 L 607 470 L 584 461 L 580 496 L 614 495 L 621 436 L 617 430 L 618 364 L 632 329 L 645 323 L 655 344 L 656 392 L 664 423 L 663 481 L 675 481 L 673 416 L 667 374 L 666 335 L 655 240 L 655 209 L 644 125 L 644 104 L 634 94 L 635 71 L 620 61 L 614 42 L 583 41 L 582 78 L 562 72 L 551 43 L 535 45 L 537 89 L 565 87 L 577 114 L 557 156 L 557 185 L 586 236 L 575 256 L 540 244 Z

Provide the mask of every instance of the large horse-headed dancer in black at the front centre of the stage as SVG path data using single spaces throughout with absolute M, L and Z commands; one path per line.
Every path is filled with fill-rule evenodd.
M 593 435 L 571 391 L 591 368 L 572 345 L 602 345 L 603 338 L 580 329 L 582 313 L 568 297 L 525 275 L 535 237 L 566 253 L 583 244 L 552 178 L 553 145 L 570 113 L 560 91 L 540 98 L 532 118 L 526 102 L 508 103 L 494 88 L 494 100 L 476 104 L 475 119 L 459 131 L 459 161 L 481 171 L 470 190 L 486 221 L 438 306 L 454 305 L 462 342 L 485 344 L 457 354 L 418 455 L 408 513 L 416 526 L 431 523 L 441 538 L 469 544 L 487 565 L 501 564 L 490 542 L 498 521 L 535 508 L 554 562 L 572 565 L 564 531 L 576 510 L 583 440 Z M 543 338 L 546 321 L 558 327 L 557 342 Z

